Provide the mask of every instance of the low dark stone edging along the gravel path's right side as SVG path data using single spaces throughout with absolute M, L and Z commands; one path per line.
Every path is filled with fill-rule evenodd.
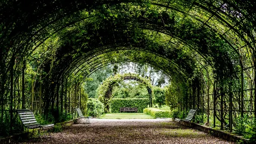
M 195 124 L 195 123 L 190 123 L 190 122 L 185 122 L 185 121 L 180 121 L 179 122 L 182 125 L 188 126 L 188 127 L 193 127 L 194 129 L 200 130 L 200 131 L 204 131 L 207 132 L 209 134 L 211 134 L 214 137 L 220 137 L 223 138 L 224 140 L 227 141 L 232 141 L 232 142 L 239 142 L 239 141 L 243 141 L 243 144 L 247 144 L 248 140 L 243 138 L 242 136 L 236 136 L 234 134 L 231 133 L 227 133 L 226 131 L 221 131 L 221 130 L 216 130 L 207 126 L 203 126 L 200 124 Z

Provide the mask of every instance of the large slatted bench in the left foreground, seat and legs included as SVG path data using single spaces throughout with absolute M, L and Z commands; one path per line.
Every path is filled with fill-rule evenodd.
M 40 132 L 41 131 L 45 131 L 45 130 L 50 130 L 50 129 L 53 129 L 54 128 L 54 124 L 46 124 L 46 125 L 41 125 L 39 124 L 36 119 L 35 119 L 35 116 L 33 114 L 33 112 L 31 110 L 15 110 L 18 115 L 20 116 L 20 120 L 22 122 L 22 124 L 27 128 L 27 132 L 28 132 L 28 129 L 39 129 L 39 137 L 42 139 L 41 135 L 40 135 Z M 48 131 L 50 137 L 51 134 L 50 132 Z M 46 134 L 44 133 L 44 136 L 46 137 Z M 46 137 L 47 139 L 47 137 Z

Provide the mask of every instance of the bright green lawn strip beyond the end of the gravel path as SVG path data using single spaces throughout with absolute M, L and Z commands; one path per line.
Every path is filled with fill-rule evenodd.
M 153 119 L 154 117 L 144 113 L 107 113 L 100 116 L 105 119 Z

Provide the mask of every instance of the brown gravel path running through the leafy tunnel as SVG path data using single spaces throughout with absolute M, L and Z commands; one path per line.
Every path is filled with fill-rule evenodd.
M 91 119 L 26 144 L 235 144 L 169 119 Z

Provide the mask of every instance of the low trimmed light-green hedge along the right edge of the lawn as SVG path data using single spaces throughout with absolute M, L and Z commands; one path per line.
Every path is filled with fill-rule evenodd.
M 171 111 L 163 111 L 157 108 L 145 108 L 143 113 L 151 115 L 154 118 L 171 118 Z

